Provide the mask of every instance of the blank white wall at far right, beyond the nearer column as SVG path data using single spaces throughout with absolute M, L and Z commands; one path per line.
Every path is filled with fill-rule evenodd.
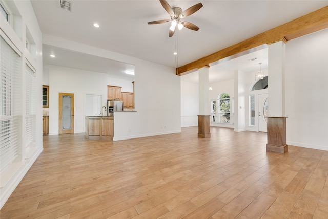
M 287 144 L 328 150 L 328 29 L 286 44 L 285 83 Z

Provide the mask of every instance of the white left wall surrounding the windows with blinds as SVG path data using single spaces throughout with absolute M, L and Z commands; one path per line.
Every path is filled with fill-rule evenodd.
M 5 1 L 13 13 L 16 14 L 17 21 L 14 21 L 15 27 L 12 28 L 5 20 L 4 16 L 0 15 L 1 35 L 6 35 L 9 38 L 10 44 L 14 45 L 22 54 L 22 75 L 25 73 L 26 60 L 36 70 L 36 88 L 39 88 L 36 93 L 36 135 L 35 145 L 25 148 L 25 77 L 23 77 L 23 95 L 22 95 L 22 146 L 18 151 L 18 159 L 10 165 L 7 172 L 4 171 L 0 175 L 0 208 L 5 204 L 13 190 L 22 180 L 26 172 L 32 166 L 38 155 L 42 152 L 42 33 L 38 26 L 36 16 L 34 14 L 30 1 Z M 20 17 L 19 17 L 20 14 Z M 26 27 L 31 33 L 34 45 L 31 54 L 25 48 L 26 42 Z

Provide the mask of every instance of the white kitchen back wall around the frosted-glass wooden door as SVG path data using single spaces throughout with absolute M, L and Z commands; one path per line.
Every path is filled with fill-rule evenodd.
M 107 74 L 89 72 L 61 66 L 49 68 L 49 135 L 58 134 L 58 95 L 74 94 L 74 133 L 84 132 L 86 94 L 103 95 L 103 106 L 107 103 Z

